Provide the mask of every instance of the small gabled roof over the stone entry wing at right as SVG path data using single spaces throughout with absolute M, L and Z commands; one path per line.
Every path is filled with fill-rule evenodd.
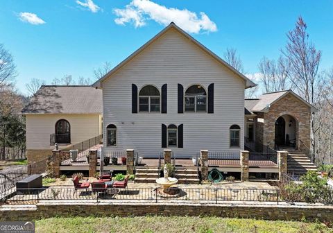
M 269 107 L 271 107 L 273 103 L 280 100 L 287 94 L 292 94 L 293 96 L 298 98 L 298 100 L 302 101 L 302 103 L 305 103 L 305 105 L 311 108 L 311 112 L 317 111 L 316 107 L 309 104 L 302 97 L 298 96 L 298 94 L 296 94 L 290 89 L 280 92 L 271 92 L 271 93 L 262 94 L 262 96 L 260 96 L 259 99 L 257 99 L 257 101 L 246 100 L 245 105 L 247 105 L 250 108 L 249 110 L 251 112 L 268 112 Z

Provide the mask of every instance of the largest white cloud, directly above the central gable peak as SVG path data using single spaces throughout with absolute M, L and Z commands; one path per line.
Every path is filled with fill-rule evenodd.
M 114 14 L 117 15 L 117 19 L 114 19 L 116 24 L 133 23 L 136 28 L 152 19 L 164 26 L 173 21 L 188 33 L 217 31 L 216 24 L 204 12 L 198 16 L 196 12 L 167 8 L 150 0 L 133 0 L 124 9 L 114 9 Z

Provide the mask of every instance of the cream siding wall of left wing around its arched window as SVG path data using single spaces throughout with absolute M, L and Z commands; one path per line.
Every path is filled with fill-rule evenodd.
M 54 148 L 50 146 L 50 135 L 55 133 L 56 122 L 60 119 L 67 120 L 71 126 L 71 144 L 100 134 L 99 114 L 26 114 L 26 148 Z

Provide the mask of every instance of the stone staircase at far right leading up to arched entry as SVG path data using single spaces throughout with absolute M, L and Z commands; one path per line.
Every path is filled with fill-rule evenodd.
M 317 171 L 316 165 L 314 165 L 307 155 L 302 153 L 289 153 L 288 155 L 288 173 L 295 175 L 303 175 L 307 171 Z

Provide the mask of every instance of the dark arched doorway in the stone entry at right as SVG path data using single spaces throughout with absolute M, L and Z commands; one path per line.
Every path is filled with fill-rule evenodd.
M 275 121 L 275 145 L 296 147 L 297 121 L 288 114 L 280 116 Z

